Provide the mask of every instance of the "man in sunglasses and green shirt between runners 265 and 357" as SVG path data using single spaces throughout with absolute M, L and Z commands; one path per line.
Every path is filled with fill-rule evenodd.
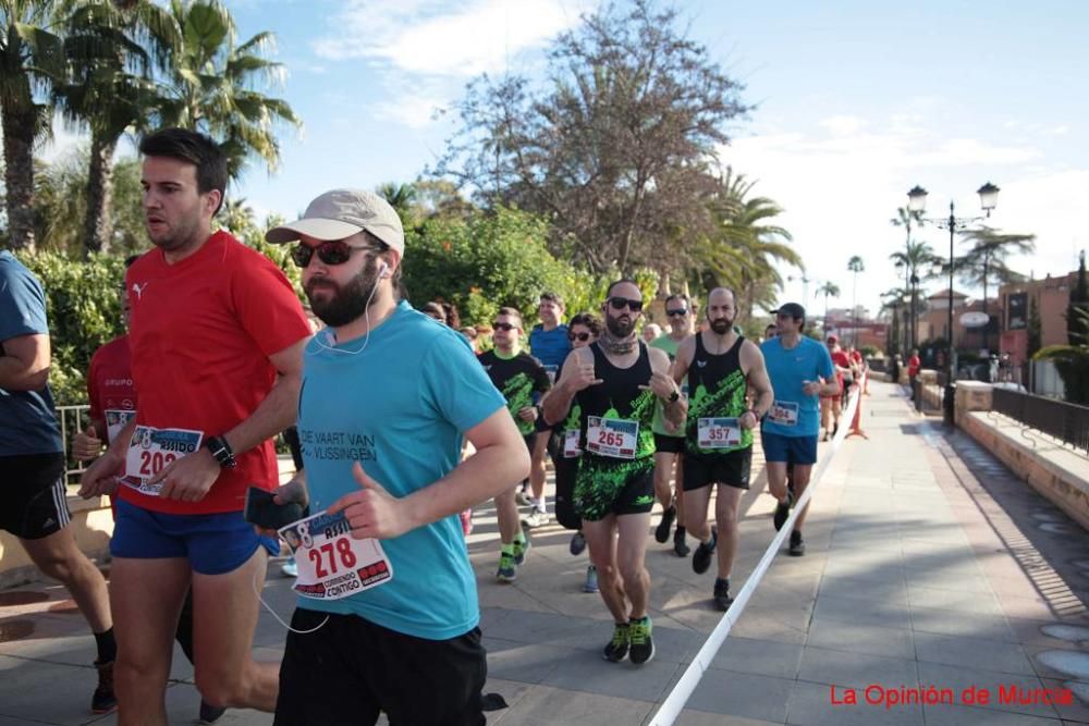
M 650 344 L 651 347 L 665 352 L 672 362 L 677 356 L 677 347 L 693 334 L 693 312 L 688 296 L 684 293 L 673 293 L 665 298 L 665 317 L 670 323 L 670 332 L 660 335 Z M 681 381 L 681 395 L 688 395 L 687 379 Z M 684 516 L 684 428 L 670 430 L 665 426 L 665 415 L 662 407 L 654 410 L 654 493 L 662 503 L 662 520 L 654 529 L 654 539 L 665 543 L 670 539 L 670 527 L 676 519 L 677 529 L 673 533 L 673 552 L 678 557 L 687 557 L 690 550 L 685 541 Z M 676 477 L 673 476 L 674 466 Z M 674 482 L 671 484 L 671 479 Z M 675 495 L 674 495 L 675 491 Z

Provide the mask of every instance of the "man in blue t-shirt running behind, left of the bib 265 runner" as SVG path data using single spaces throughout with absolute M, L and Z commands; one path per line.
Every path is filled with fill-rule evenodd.
M 571 341 L 567 340 L 567 327 L 563 320 L 563 298 L 555 293 L 541 293 L 538 313 L 541 317 L 539 325 L 529 331 L 529 354 L 541 361 L 549 381 L 555 383 L 555 378 L 563 366 L 564 359 L 571 353 Z M 526 527 L 540 527 L 548 521 L 548 509 L 544 506 L 544 454 L 548 453 L 549 440 L 553 430 L 544 423 L 544 417 L 537 419 L 537 438 L 534 440 L 533 463 L 529 466 L 529 485 L 533 497 L 529 504 L 534 509 L 523 521 Z M 525 502 L 523 488 L 521 501 Z

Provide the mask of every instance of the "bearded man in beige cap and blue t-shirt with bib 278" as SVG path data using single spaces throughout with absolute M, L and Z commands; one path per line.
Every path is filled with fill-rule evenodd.
M 529 454 L 465 339 L 395 290 L 396 212 L 334 189 L 270 230 L 329 325 L 307 345 L 298 401 L 304 473 L 278 502 L 309 500 L 292 527 L 299 593 L 280 672 L 284 726 L 484 724 L 480 613 L 458 513 L 511 489 Z M 461 459 L 465 435 L 476 453 Z

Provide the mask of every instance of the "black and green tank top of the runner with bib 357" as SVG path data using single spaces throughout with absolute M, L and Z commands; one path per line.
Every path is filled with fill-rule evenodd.
M 748 409 L 745 394 L 748 381 L 742 370 L 742 344 L 737 336 L 729 350 L 719 355 L 703 347 L 703 335 L 696 335 L 696 353 L 688 367 L 688 419 L 685 422 L 685 450 L 689 454 L 725 454 L 752 445 L 752 430 L 743 429 L 741 443 L 721 448 L 699 445 L 699 419 L 738 418 Z

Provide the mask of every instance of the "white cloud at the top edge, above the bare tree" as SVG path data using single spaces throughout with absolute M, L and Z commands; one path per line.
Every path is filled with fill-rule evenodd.
M 314 44 L 331 60 L 367 59 L 409 73 L 474 76 L 543 46 L 578 22 L 585 0 L 476 0 L 456 11 L 436 0 L 348 0 L 335 30 Z

